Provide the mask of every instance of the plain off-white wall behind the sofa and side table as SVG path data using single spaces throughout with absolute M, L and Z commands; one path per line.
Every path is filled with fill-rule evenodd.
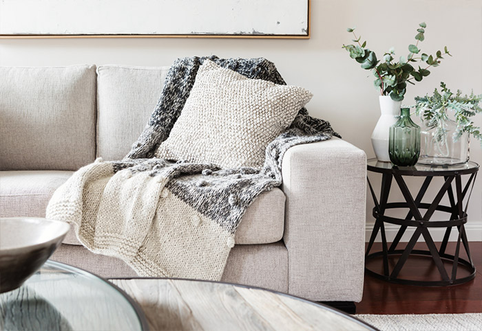
M 50 66 L 95 63 L 169 65 L 178 57 L 216 54 L 220 57 L 269 58 L 289 84 L 314 93 L 312 115 L 328 119 L 344 139 L 374 157 L 370 134 L 379 116 L 378 93 L 371 73 L 359 67 L 342 49 L 350 43 L 346 27 L 357 32 L 377 54 L 395 46 L 407 55 L 418 23 L 425 21 L 423 52 L 447 45 L 453 58 L 417 86 L 409 86 L 406 104 L 415 95 L 431 92 L 443 80 L 453 89 L 482 93 L 482 3 L 480 0 L 322 1 L 312 0 L 311 39 L 186 39 L 85 38 L 0 40 L 0 65 Z M 160 18 L 162 19 L 162 18 Z M 478 124 L 482 124 L 480 118 Z M 479 144 L 472 141 L 471 159 L 481 163 Z M 469 207 L 469 238 L 482 241 L 482 174 Z M 379 181 L 370 174 L 375 186 Z M 410 187 L 421 183 L 410 181 Z M 394 191 L 395 192 L 395 191 Z M 433 192 L 433 191 L 432 191 Z M 396 197 L 396 194 L 394 195 Z M 367 223 L 373 224 L 368 197 Z M 389 231 L 389 235 L 392 231 Z M 437 238 L 440 240 L 440 238 Z

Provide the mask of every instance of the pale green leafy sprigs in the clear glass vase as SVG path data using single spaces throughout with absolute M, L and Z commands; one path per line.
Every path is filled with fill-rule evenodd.
M 415 108 L 417 115 L 426 123 L 428 128 L 436 128 L 435 137 L 437 141 L 446 139 L 445 122 L 449 118 L 449 113 L 453 113 L 457 129 L 454 140 L 459 139 L 463 133 L 472 135 L 475 139 L 482 142 L 481 128 L 474 126 L 470 117 L 481 113 L 479 103 L 481 95 L 462 95 L 460 90 L 453 93 L 448 89 L 444 82 L 440 83 L 441 91 L 434 90 L 433 95 L 415 98 Z

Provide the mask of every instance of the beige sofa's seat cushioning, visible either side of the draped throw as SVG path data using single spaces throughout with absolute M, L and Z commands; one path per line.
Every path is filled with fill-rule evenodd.
M 57 187 L 71 171 L 0 171 L 0 217 L 45 217 L 45 208 Z M 262 193 L 244 214 L 236 244 L 269 244 L 282 239 L 284 231 L 284 193 L 274 188 Z M 63 240 L 80 244 L 73 229 Z

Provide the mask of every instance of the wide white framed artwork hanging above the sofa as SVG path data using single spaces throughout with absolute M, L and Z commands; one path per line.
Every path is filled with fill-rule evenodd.
M 0 38 L 309 38 L 310 0 L 0 0 Z

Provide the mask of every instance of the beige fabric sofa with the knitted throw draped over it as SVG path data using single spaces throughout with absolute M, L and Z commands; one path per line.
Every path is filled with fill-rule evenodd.
M 0 217 L 45 216 L 50 196 L 96 157 L 122 159 L 154 109 L 168 67 L 0 67 Z M 338 128 L 340 129 L 340 128 Z M 342 139 L 291 148 L 283 185 L 249 207 L 223 281 L 315 301 L 360 301 L 366 156 Z M 136 276 L 69 233 L 53 260 Z M 182 262 L 180 262 L 182 263 Z

